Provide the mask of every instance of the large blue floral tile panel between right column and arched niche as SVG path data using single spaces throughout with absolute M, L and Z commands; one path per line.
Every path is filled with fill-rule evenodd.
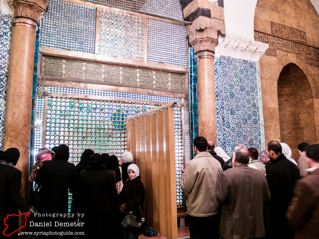
M 237 144 L 264 148 L 258 62 L 214 60 L 217 145 L 231 155 Z M 262 139 L 263 138 L 263 139 Z

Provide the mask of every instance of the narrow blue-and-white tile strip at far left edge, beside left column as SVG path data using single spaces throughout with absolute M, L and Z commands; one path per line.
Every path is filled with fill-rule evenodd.
M 12 17 L 0 10 L 0 149 L 4 144 L 4 120 L 11 49 Z

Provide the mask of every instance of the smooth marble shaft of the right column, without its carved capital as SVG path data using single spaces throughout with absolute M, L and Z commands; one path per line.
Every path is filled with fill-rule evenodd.
M 200 51 L 197 61 L 198 136 L 217 142 L 214 53 Z

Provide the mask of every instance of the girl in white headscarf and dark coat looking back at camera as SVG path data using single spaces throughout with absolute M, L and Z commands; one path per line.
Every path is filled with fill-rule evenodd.
M 130 211 L 133 211 L 133 214 L 137 217 L 142 218 L 141 210 L 143 212 L 145 188 L 141 181 L 141 176 L 139 176 L 139 169 L 136 164 L 132 163 L 128 166 L 127 172 L 129 179 L 125 182 L 119 195 L 122 218 Z M 138 239 L 138 234 L 126 229 L 126 238 Z

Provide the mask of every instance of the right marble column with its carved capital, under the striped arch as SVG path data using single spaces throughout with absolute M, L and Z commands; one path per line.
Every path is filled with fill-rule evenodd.
M 197 61 L 198 136 L 210 139 L 217 145 L 214 54 L 219 35 L 225 34 L 225 23 L 216 18 L 199 16 L 186 26 L 186 34 Z

